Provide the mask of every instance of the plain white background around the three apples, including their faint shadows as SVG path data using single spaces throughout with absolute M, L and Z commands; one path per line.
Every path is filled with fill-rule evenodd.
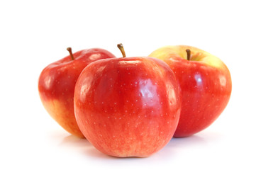
M 256 169 L 253 1 L 1 1 L 0 169 Z M 198 134 L 151 157 L 118 159 L 69 135 L 45 111 L 38 77 L 51 62 L 91 47 L 117 57 L 192 45 L 226 63 L 226 110 Z

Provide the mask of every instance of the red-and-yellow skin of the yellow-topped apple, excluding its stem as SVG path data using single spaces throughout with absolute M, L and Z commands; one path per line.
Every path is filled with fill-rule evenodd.
M 187 60 L 186 50 L 191 50 Z M 174 137 L 187 137 L 211 125 L 226 108 L 232 89 L 228 67 L 217 57 L 191 46 L 162 47 L 150 57 L 165 61 L 182 91 L 182 111 Z

